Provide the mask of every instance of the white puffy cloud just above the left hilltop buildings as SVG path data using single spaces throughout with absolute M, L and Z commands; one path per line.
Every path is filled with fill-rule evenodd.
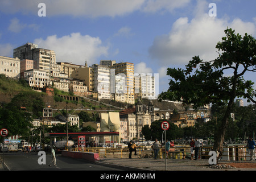
M 72 33 L 61 38 L 56 35 L 48 36 L 46 40 L 36 39 L 35 44 L 41 48 L 52 49 L 56 53 L 57 61 L 68 61 L 73 64 L 88 65 L 98 62 L 98 57 L 107 56 L 109 46 L 103 46 L 100 38 L 89 35 Z

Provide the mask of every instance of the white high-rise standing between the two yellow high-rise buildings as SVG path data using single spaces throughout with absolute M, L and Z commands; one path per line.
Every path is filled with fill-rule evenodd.
M 110 98 L 110 68 L 106 65 L 93 64 L 94 92 L 98 93 L 98 99 Z

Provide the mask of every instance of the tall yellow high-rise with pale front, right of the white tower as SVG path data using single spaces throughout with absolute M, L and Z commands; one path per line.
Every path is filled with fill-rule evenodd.
M 110 66 L 110 69 L 115 69 L 115 75 L 126 76 L 126 93 L 124 93 L 125 102 L 129 104 L 135 103 L 134 98 L 134 64 L 133 63 L 116 63 Z

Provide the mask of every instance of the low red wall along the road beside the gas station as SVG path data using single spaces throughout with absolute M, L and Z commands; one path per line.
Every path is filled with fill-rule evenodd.
M 75 159 L 84 159 L 88 160 L 89 162 L 96 162 L 100 160 L 100 157 L 97 153 L 92 152 L 73 152 L 73 151 L 62 151 L 62 156 L 67 156 L 69 158 L 75 158 Z

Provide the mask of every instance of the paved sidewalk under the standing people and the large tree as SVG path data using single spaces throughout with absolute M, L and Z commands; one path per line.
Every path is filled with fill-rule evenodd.
M 220 161 L 217 166 L 210 166 L 208 159 L 190 160 L 190 159 L 118 159 L 118 158 L 100 158 L 100 165 L 109 165 L 124 170 L 133 171 L 256 171 L 256 160 L 243 162 Z M 237 167 L 234 164 L 240 164 Z M 242 165 L 247 168 L 241 168 Z

